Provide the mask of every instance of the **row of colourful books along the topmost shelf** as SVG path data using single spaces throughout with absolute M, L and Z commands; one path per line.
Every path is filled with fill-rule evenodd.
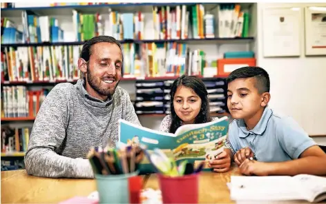
M 112 36 L 117 40 L 248 37 L 249 14 L 240 10 L 240 4 L 228 3 L 217 7 L 212 13 L 205 14 L 203 4 L 153 6 L 152 17 L 149 17 L 153 23 L 148 19 L 151 25 L 146 24 L 146 30 L 151 32 L 144 30 L 144 13 L 123 13 L 111 8 L 108 8 L 108 14 L 83 14 L 72 10 L 72 26 L 75 41 L 86 41 L 99 35 Z M 1 18 L 1 21 L 6 21 L 3 26 L 1 23 L 1 28 L 5 31 L 2 32 L 2 43 L 64 41 L 64 30 L 58 25 L 57 19 L 39 16 L 30 10 L 22 11 L 23 31 L 17 30 L 16 23 L 7 18 Z

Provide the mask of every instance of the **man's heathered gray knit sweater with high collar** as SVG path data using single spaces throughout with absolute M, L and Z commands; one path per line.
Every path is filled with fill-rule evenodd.
M 126 90 L 117 87 L 102 101 L 86 92 L 84 81 L 60 83 L 50 91 L 35 119 L 25 156 L 28 174 L 93 178 L 86 155 L 90 147 L 118 140 L 118 120 L 140 125 Z

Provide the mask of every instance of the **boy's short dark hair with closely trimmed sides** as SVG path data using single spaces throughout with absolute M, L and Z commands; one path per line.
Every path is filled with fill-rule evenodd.
M 227 77 L 227 83 L 230 83 L 236 79 L 250 78 L 254 77 L 256 79 L 256 88 L 260 94 L 264 92 L 269 92 L 270 82 L 269 74 L 260 67 L 243 67 L 237 70 L 234 70 Z

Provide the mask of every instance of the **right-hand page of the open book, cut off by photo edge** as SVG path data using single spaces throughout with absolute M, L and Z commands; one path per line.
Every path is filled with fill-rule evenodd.
M 309 201 L 323 201 L 326 199 L 326 178 L 309 174 L 299 174 L 293 177 L 304 187 L 305 194 L 309 196 Z M 321 196 L 323 194 L 323 196 Z

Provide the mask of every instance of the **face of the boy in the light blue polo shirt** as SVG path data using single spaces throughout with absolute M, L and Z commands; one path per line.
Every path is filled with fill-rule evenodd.
M 227 87 L 227 108 L 233 119 L 251 119 L 262 107 L 268 103 L 266 94 L 258 92 L 256 79 L 235 79 Z

